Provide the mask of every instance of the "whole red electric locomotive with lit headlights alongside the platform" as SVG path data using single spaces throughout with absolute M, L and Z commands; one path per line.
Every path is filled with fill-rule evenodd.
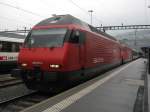
M 121 50 L 121 44 L 108 34 L 71 15 L 59 15 L 29 32 L 19 53 L 19 71 L 28 88 L 47 89 L 93 77 L 130 59 L 124 52 L 128 49 Z

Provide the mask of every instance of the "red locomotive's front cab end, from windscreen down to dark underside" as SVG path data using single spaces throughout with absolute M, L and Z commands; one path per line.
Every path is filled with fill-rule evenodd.
M 78 29 L 33 29 L 19 53 L 21 77 L 28 88 L 76 78 L 72 74 L 81 72 L 84 64 L 84 36 Z

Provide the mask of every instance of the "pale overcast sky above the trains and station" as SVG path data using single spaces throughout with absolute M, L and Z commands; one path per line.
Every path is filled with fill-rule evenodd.
M 0 30 L 32 27 L 52 14 L 71 14 L 93 25 L 150 24 L 150 0 L 0 0 Z

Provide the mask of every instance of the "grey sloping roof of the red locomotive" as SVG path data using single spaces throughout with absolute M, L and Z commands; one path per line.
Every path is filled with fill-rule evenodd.
M 48 26 L 48 25 L 66 25 L 66 24 L 78 24 L 84 28 L 91 30 L 92 32 L 99 33 L 99 34 L 104 35 L 114 41 L 117 41 L 116 38 L 110 36 L 109 34 L 102 32 L 102 31 L 98 30 L 97 28 L 89 25 L 88 23 L 85 23 L 85 22 L 81 21 L 80 19 L 78 19 L 72 15 L 69 15 L 69 14 L 54 15 L 51 18 L 48 18 L 48 19 L 45 19 L 45 20 L 39 22 L 37 25 L 35 25 L 35 27 L 36 26 Z

